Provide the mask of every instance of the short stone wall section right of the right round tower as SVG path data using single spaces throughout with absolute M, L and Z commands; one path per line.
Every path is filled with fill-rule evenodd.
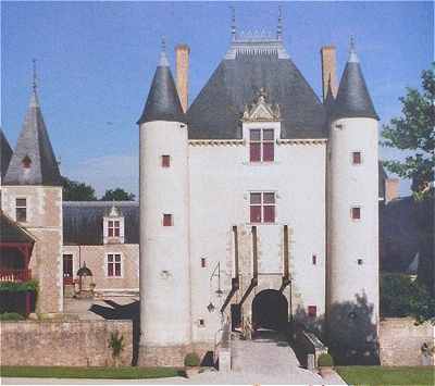
M 434 347 L 435 328 L 430 323 L 419 326 L 409 317 L 391 317 L 381 322 L 380 354 L 382 365 L 422 365 L 421 347 Z M 434 364 L 434 358 L 432 358 Z

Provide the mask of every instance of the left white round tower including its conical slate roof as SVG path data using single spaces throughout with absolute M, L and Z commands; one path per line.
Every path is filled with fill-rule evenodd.
M 164 48 L 139 125 L 140 365 L 183 365 L 190 345 L 188 137 Z

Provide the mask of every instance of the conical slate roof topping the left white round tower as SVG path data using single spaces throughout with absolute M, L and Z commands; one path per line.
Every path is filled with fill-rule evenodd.
M 151 121 L 186 122 L 164 51 L 161 52 L 144 112 L 137 123 L 140 125 Z

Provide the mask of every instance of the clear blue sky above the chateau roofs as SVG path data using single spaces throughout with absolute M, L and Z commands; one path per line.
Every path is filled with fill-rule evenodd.
M 61 171 L 99 194 L 138 190 L 136 121 L 150 86 L 160 39 L 171 63 L 178 42 L 190 46 L 190 101 L 229 45 L 229 7 L 238 30 L 276 29 L 283 5 L 286 48 L 321 95 L 319 50 L 337 47 L 337 75 L 349 36 L 357 42 L 375 108 L 386 123 L 398 98 L 419 87 L 434 57 L 433 2 L 2 2 L 1 126 L 14 147 L 27 109 L 32 59 Z M 381 158 L 402 157 L 381 149 Z M 401 194 L 409 184 L 403 182 Z

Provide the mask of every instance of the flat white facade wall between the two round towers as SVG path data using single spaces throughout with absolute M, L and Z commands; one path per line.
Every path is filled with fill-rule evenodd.
M 282 242 L 283 225 L 288 225 L 293 229 L 294 291 L 300 294 L 299 302 L 306 311 L 307 306 L 312 304 L 318 307 L 318 314 L 322 314 L 325 301 L 325 144 L 275 145 L 275 162 L 251 164 L 248 145 L 197 142 L 189 147 L 189 165 L 194 340 L 213 340 L 220 327 L 219 309 L 231 286 L 232 226 L 249 224 L 250 190 L 277 194 L 276 224 L 261 225 L 258 231 L 259 257 L 264 259 L 259 262 L 261 270 L 275 271 L 281 266 L 282 253 L 276 253 L 282 247 L 276 244 Z M 312 265 L 312 254 L 318 257 L 316 265 Z M 208 262 L 206 269 L 200 264 L 203 257 Z M 222 283 L 226 286 L 222 298 L 214 295 L 215 278 L 210 285 L 210 275 L 219 261 L 221 270 L 225 271 L 222 272 Z M 207 310 L 210 300 L 216 306 L 213 313 Z M 204 328 L 197 326 L 198 319 L 206 320 Z

